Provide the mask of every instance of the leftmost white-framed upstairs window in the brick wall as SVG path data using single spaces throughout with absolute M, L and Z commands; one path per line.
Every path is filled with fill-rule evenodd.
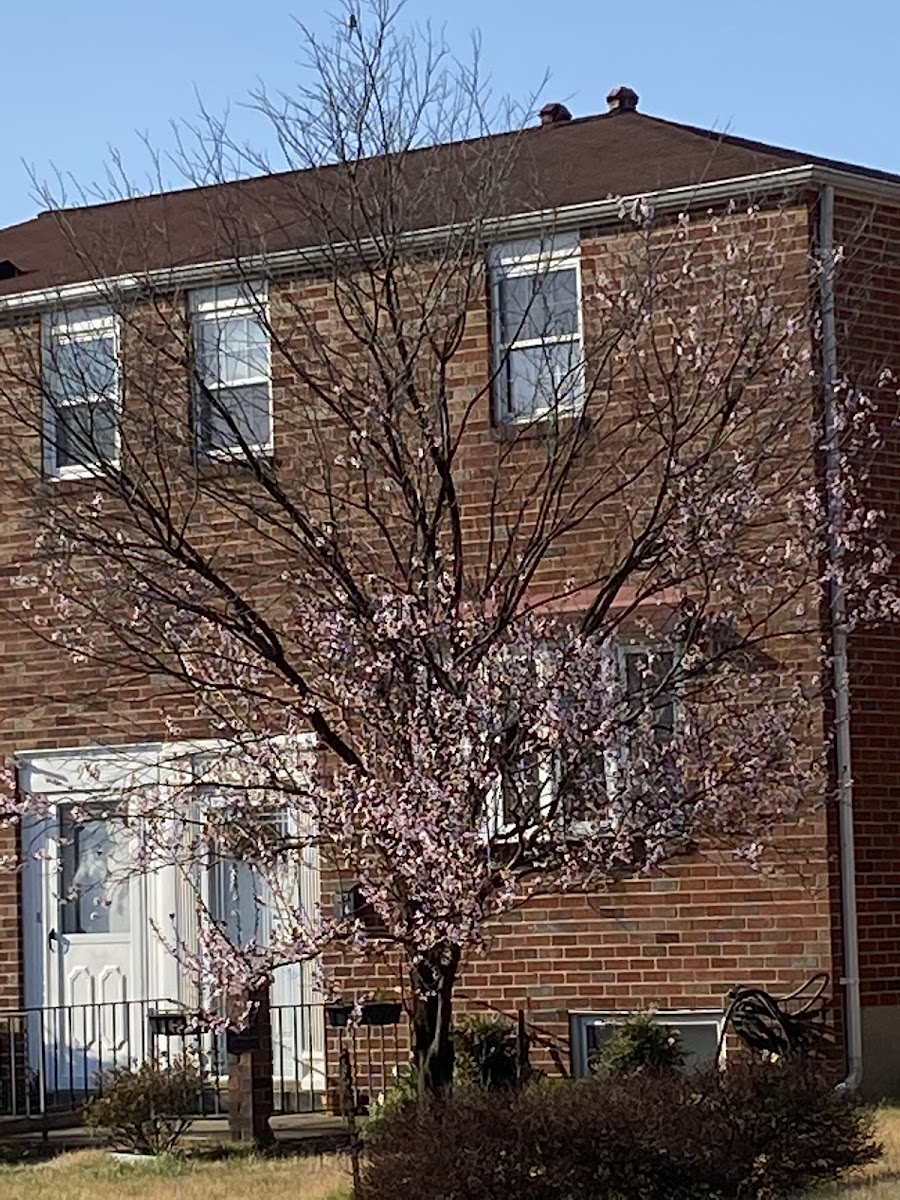
M 119 457 L 119 320 L 109 308 L 52 313 L 44 320 L 44 470 L 96 474 Z

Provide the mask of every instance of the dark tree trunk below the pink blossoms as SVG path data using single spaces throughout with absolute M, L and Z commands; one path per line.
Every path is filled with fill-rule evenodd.
M 434 954 L 409 971 L 413 990 L 413 1063 L 419 1102 L 446 1096 L 454 1082 L 452 996 L 460 952 Z

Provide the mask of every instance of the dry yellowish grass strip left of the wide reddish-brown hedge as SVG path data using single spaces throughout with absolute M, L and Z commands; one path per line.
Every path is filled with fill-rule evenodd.
M 1 1200 L 346 1200 L 336 1158 L 163 1158 L 120 1163 L 96 1150 L 0 1168 Z

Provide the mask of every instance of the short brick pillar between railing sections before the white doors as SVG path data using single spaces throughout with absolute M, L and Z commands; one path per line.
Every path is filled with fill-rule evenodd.
M 232 1141 L 271 1146 L 275 1135 L 269 1118 L 275 1108 L 275 1091 L 269 989 L 253 992 L 251 1004 L 246 1027 L 227 1036 L 228 1129 Z

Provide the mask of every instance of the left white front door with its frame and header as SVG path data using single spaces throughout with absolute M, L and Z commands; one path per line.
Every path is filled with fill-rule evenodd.
M 115 810 L 122 780 L 156 770 L 145 748 L 20 762 L 20 786 L 41 806 L 23 821 L 22 919 L 29 1058 L 42 1092 L 86 1091 L 146 1054 L 158 881 L 136 872 L 134 835 Z

